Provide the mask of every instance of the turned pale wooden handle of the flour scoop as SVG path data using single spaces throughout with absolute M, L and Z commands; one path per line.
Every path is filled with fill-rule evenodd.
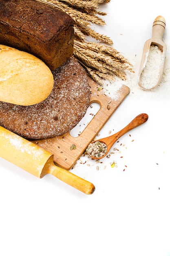
M 152 27 L 152 38 L 157 38 L 162 40 L 164 31 L 166 27 L 166 20 L 163 16 L 157 16 L 153 22 Z

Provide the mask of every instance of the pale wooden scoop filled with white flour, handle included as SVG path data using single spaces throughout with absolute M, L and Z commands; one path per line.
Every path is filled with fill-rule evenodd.
M 152 38 L 147 40 L 144 44 L 137 79 L 138 85 L 144 90 L 152 90 L 161 82 L 166 57 L 166 44 L 162 41 L 165 27 L 166 21 L 163 16 L 157 16 L 153 22 Z M 157 56 L 160 56 L 160 61 L 157 61 L 155 56 L 152 56 L 151 46 L 153 49 L 158 47 L 158 49 L 154 49 L 154 52 Z M 153 61 L 154 63 L 152 63 Z M 149 74 L 148 71 L 150 72 Z

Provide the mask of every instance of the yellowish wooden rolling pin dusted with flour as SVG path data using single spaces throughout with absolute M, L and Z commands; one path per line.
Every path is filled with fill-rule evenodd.
M 90 195 L 95 191 L 91 182 L 56 166 L 50 152 L 1 126 L 0 157 L 39 178 L 50 173 L 85 194 Z

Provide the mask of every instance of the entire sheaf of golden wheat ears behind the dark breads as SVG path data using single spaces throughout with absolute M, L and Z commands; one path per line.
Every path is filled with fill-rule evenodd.
M 113 41 L 91 29 L 91 24 L 105 25 L 99 16 L 107 13 L 99 10 L 99 5 L 110 0 L 39 0 L 67 13 L 74 21 L 74 56 L 87 73 L 99 84 L 103 79 L 115 80 L 118 76 L 126 80 L 125 70 L 133 71 L 131 63 L 113 45 Z M 88 42 L 93 38 L 95 42 Z

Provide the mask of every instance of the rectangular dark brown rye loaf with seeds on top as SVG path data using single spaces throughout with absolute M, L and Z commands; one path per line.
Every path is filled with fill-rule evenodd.
M 0 0 L 0 44 L 29 52 L 55 70 L 73 55 L 73 20 L 36 0 Z

